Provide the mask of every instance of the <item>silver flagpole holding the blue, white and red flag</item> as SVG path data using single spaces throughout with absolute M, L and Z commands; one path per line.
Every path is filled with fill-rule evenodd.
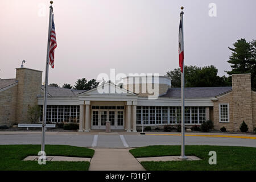
M 184 7 L 181 7 L 181 24 L 182 24 L 182 41 L 183 41 L 183 52 L 184 52 L 184 27 L 183 27 L 183 9 Z M 184 101 L 184 59 L 183 59 L 183 65 L 182 65 L 182 72 L 181 72 L 181 156 L 179 159 L 188 159 L 187 156 L 185 156 L 185 101 Z

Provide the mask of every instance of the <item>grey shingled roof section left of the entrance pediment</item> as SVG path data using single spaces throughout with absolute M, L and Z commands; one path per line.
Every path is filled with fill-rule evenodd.
M 44 86 L 42 85 L 42 90 L 44 91 Z M 77 97 L 78 94 L 85 92 L 86 90 L 75 90 L 75 89 L 65 89 L 55 86 L 48 86 L 47 93 L 50 97 Z

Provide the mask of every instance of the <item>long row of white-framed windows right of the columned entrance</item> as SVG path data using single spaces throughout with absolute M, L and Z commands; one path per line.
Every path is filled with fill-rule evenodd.
M 200 124 L 205 121 L 205 107 L 185 107 L 184 122 Z M 137 106 L 137 124 L 141 125 L 181 123 L 181 107 Z

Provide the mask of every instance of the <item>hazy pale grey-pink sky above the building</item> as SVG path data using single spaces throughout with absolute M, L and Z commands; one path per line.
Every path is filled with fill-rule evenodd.
M 178 68 L 181 6 L 185 65 L 214 65 L 226 75 L 228 47 L 256 39 L 255 0 L 55 0 L 52 6 L 57 48 L 48 82 L 60 86 L 110 77 L 110 69 L 165 75 Z M 15 78 L 26 60 L 24 67 L 43 71 L 44 82 L 49 1 L 0 0 L 0 7 L 0 78 Z

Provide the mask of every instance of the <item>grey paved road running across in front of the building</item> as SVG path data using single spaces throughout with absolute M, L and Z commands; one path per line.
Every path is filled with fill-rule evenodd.
M 67 144 L 71 146 L 93 148 L 131 148 L 159 144 L 178 145 L 181 142 L 181 137 L 179 135 L 179 133 L 147 133 L 146 135 L 140 135 L 139 133 L 125 132 L 115 132 L 110 134 L 104 132 L 47 132 L 46 144 Z M 200 137 L 200 134 L 193 133 L 193 135 L 196 136 L 189 135 L 185 137 L 185 144 L 256 147 L 256 135 L 205 133 L 201 134 L 203 137 Z M 251 139 L 249 139 L 249 137 L 251 137 Z M 40 143 L 40 132 L 0 132 L 0 144 Z

